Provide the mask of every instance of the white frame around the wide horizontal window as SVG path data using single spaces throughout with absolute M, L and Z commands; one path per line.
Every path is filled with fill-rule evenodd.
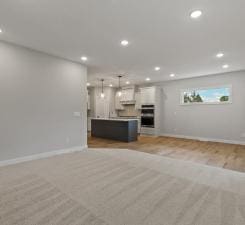
M 220 89 L 220 88 L 229 88 L 229 101 L 226 102 L 190 102 L 184 103 L 184 92 L 191 92 L 195 90 L 207 90 L 207 89 Z M 180 90 L 180 105 L 224 105 L 232 104 L 232 85 L 220 85 L 220 86 L 209 86 L 209 87 L 200 87 L 200 88 L 187 88 Z

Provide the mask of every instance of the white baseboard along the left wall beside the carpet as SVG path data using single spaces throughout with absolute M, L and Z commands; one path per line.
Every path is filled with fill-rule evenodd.
M 87 145 L 76 146 L 76 147 L 67 148 L 67 149 L 60 149 L 60 150 L 44 152 L 44 153 L 35 154 L 35 155 L 19 157 L 19 158 L 15 158 L 15 159 L 4 160 L 4 161 L 0 161 L 0 167 L 13 165 L 13 164 L 17 164 L 17 163 L 28 162 L 28 161 L 37 160 L 37 159 L 49 158 L 49 157 L 61 155 L 61 154 L 80 152 L 80 151 L 83 151 L 87 148 L 88 148 Z

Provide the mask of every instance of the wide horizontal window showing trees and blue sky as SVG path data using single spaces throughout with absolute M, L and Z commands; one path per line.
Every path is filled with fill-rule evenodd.
M 231 103 L 231 86 L 193 88 L 181 91 L 181 104 L 224 104 Z

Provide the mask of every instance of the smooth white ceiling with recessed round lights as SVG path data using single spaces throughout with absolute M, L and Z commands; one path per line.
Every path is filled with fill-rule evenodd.
M 0 38 L 77 62 L 86 55 L 92 84 L 181 79 L 245 69 L 244 9 L 244 0 L 1 0 Z

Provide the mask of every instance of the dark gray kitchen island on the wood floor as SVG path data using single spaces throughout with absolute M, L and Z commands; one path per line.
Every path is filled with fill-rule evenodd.
M 137 141 L 138 121 L 133 119 L 92 119 L 91 136 L 123 142 Z

